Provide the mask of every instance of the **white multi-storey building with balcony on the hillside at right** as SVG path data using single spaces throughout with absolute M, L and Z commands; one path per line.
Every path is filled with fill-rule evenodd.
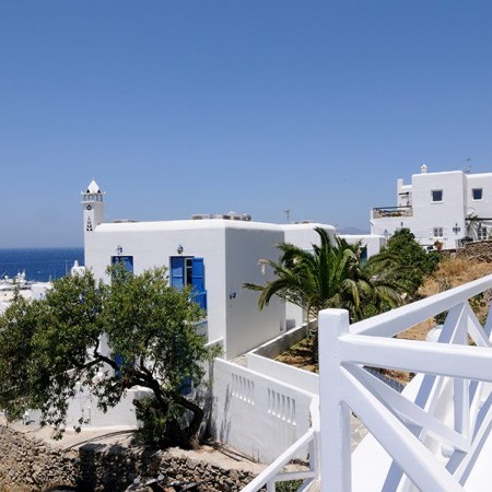
M 411 184 L 397 181 L 397 206 L 377 207 L 371 213 L 371 233 L 388 237 L 410 229 L 423 246 L 445 249 L 492 234 L 492 173 L 462 171 L 412 175 Z

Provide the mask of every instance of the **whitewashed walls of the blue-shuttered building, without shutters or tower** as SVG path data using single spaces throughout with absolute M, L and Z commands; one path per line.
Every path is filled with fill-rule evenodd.
M 263 283 L 271 271 L 261 274 L 260 258 L 277 258 L 276 245 L 283 241 L 274 224 L 229 220 L 104 223 L 85 235 L 85 266 L 96 278 L 107 279 L 106 268 L 117 248 L 133 257 L 133 270 L 169 267 L 169 257 L 204 259 L 208 292 L 209 340 L 224 338 L 224 356 L 232 359 L 255 344 L 276 337 L 284 328 L 284 309 L 272 300 L 262 312 L 258 293 L 243 289 L 244 282 Z

